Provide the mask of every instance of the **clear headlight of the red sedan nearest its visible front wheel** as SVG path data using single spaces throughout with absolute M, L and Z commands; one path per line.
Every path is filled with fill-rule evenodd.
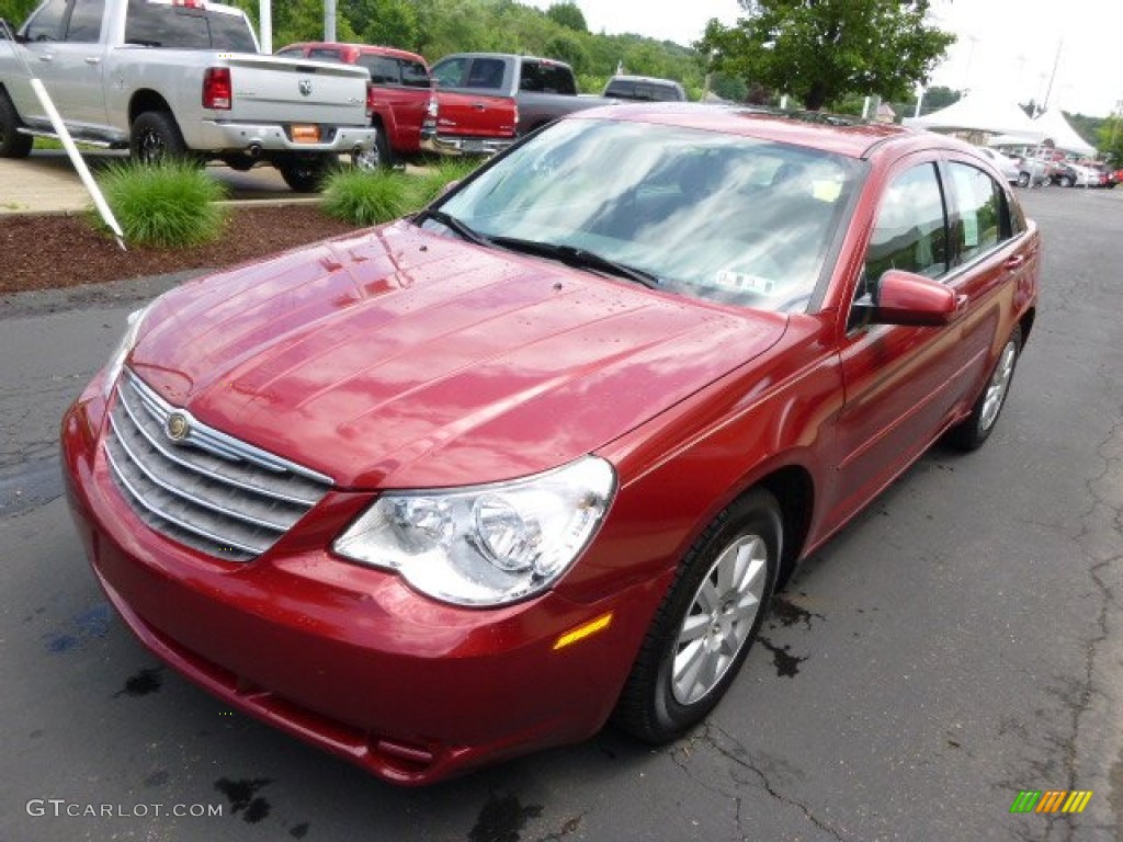
M 553 585 L 596 532 L 615 487 L 587 456 L 494 485 L 389 492 L 336 540 L 340 556 L 398 570 L 456 605 L 502 605 Z

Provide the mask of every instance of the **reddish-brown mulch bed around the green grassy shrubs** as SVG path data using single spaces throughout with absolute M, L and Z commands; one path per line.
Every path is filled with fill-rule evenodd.
M 240 205 L 217 242 L 122 251 L 84 216 L 0 214 L 0 294 L 221 268 L 354 230 L 316 203 Z

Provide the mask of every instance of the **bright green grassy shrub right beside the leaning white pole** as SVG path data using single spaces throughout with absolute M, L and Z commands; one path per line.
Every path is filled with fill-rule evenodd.
M 225 219 L 221 184 L 188 162 L 113 164 L 98 177 L 126 242 L 166 248 L 213 242 Z M 95 216 L 95 214 L 94 214 Z M 101 227 L 100 218 L 97 222 Z

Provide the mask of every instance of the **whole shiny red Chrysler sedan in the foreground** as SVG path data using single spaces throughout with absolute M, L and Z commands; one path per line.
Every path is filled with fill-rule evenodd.
M 383 778 L 666 741 L 800 559 L 990 436 L 1039 267 L 953 139 L 585 111 L 135 314 L 65 417 L 70 500 L 146 646 Z

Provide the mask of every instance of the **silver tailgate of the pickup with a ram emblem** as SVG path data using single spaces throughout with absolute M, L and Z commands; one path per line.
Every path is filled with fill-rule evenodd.
M 231 118 L 247 122 L 302 121 L 364 126 L 366 83 L 363 67 L 331 62 L 294 61 L 266 55 L 227 53 L 234 85 Z M 300 106 L 294 110 L 293 106 Z

